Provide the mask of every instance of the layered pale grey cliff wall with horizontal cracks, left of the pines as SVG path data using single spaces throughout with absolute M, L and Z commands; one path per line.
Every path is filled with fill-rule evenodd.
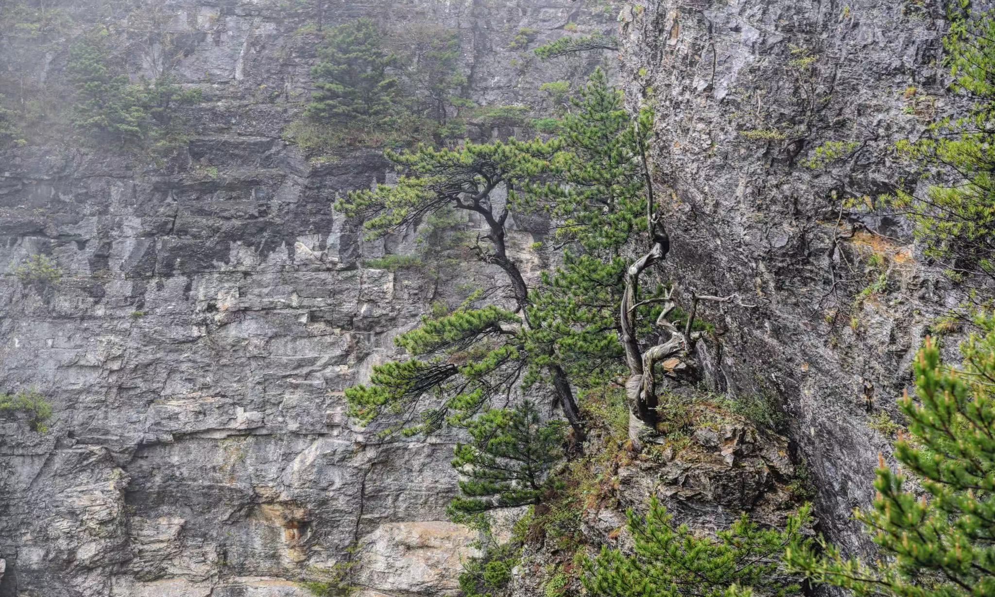
M 342 390 L 432 300 L 489 274 L 364 267 L 385 246 L 331 203 L 384 180 L 383 158 L 314 165 L 281 139 L 307 98 L 317 38 L 300 28 L 318 3 L 46 4 L 72 24 L 44 45 L 0 38 L 8 84 L 58 86 L 68 41 L 96 23 L 132 77 L 149 74 L 156 48 L 119 49 L 128 19 L 157 11 L 184 44 L 177 82 L 205 101 L 163 166 L 58 140 L 0 154 L 0 389 L 55 408 L 45 434 L 0 416 L 0 595 L 306 595 L 296 582 L 333 575 L 356 544 L 364 595 L 452 594 L 472 537 L 445 521 L 451 442 L 380 442 L 349 426 Z M 569 0 L 320 4 L 325 26 L 459 31 L 482 104 L 537 105 L 541 83 L 600 60 L 537 65 L 520 30 L 540 43 L 615 15 Z M 15 275 L 36 254 L 62 269 L 55 288 Z

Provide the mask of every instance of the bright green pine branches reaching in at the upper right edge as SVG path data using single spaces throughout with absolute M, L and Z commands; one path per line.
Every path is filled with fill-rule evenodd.
M 925 196 L 898 190 L 886 203 L 909 214 L 926 253 L 954 277 L 995 278 L 995 12 L 975 14 L 963 5 L 944 38 L 954 90 L 972 104 L 961 117 L 929 126 L 925 138 L 898 143 L 899 154 L 948 183 Z

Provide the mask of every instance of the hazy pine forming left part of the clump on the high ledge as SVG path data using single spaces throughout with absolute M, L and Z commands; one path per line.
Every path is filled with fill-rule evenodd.
M 376 24 L 359 19 L 329 31 L 311 69 L 317 93 L 304 109 L 318 122 L 353 129 L 384 126 L 398 100 L 397 79 L 388 75 L 397 57 L 383 44 Z

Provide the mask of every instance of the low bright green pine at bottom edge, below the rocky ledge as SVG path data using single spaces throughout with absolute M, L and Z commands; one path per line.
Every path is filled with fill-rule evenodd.
M 800 593 L 786 573 L 781 554 L 792 542 L 804 544 L 808 507 L 788 517 L 784 530 L 760 528 L 743 514 L 712 538 L 673 516 L 654 497 L 647 515 L 628 512 L 633 553 L 603 547 L 586 564 L 584 586 L 599 597 L 724 597 L 756 590 L 783 597 Z

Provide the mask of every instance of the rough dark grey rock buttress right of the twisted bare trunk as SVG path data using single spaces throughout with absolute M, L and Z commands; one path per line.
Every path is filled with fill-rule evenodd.
M 665 269 L 686 293 L 757 304 L 704 315 L 721 332 L 711 376 L 783 405 L 822 525 L 850 549 L 849 514 L 890 451 L 869 418 L 894 409 L 943 295 L 906 228 L 842 202 L 886 191 L 904 174 L 890 147 L 947 109 L 939 4 L 660 0 L 620 15 L 629 98 L 658 114 Z M 874 254 L 887 265 L 869 274 Z M 860 298 L 881 273 L 887 289 Z

